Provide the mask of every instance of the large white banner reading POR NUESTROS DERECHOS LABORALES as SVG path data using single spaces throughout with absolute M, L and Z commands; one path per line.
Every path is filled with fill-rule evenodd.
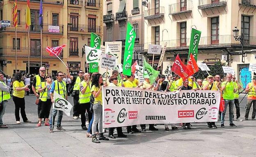
M 136 124 L 217 122 L 219 102 L 219 91 L 165 93 L 107 86 L 103 87 L 103 128 Z

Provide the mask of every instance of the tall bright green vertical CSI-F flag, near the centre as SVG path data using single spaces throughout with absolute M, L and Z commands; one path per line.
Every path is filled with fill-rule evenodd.
M 136 33 L 133 29 L 133 25 L 128 22 L 126 31 L 126 43 L 123 55 L 123 75 L 130 76 L 132 73 L 133 46 L 135 38 Z

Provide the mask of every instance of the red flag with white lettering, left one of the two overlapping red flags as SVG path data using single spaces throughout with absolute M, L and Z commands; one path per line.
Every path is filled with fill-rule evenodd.
M 171 71 L 179 75 L 183 81 L 185 81 L 189 76 L 191 76 L 191 71 L 187 69 L 187 67 L 181 61 L 179 55 L 177 55 L 174 60 L 174 64 L 171 67 Z

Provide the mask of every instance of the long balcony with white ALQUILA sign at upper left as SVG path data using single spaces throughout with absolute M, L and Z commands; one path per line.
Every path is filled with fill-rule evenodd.
M 27 33 L 25 22 L 21 22 L 16 27 L 17 32 Z M 40 24 L 34 23 L 30 25 L 30 33 L 40 33 Z M 15 32 L 15 27 L 13 26 L 13 22 L 11 22 L 11 27 L 2 27 L 0 28 L 0 32 Z M 51 26 L 48 24 L 43 24 L 42 29 L 43 34 L 56 34 L 63 35 L 63 26 Z

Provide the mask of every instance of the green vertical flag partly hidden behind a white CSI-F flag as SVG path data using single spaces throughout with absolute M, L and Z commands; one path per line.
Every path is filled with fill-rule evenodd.
M 101 49 L 101 37 L 91 32 L 91 43 L 90 46 L 94 49 Z M 89 72 L 98 72 L 98 62 L 90 63 Z

